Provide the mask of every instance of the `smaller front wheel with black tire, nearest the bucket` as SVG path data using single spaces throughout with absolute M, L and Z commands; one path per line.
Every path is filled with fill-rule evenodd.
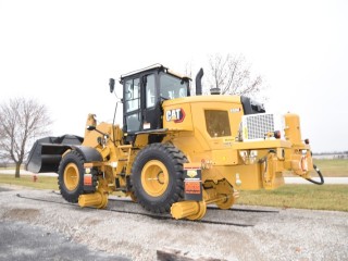
M 63 198 L 72 203 L 84 192 L 85 160 L 77 151 L 67 152 L 58 169 L 58 185 Z

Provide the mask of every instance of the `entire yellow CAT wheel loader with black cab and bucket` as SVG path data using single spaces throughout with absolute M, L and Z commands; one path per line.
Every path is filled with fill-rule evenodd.
M 122 75 L 123 124 L 86 122 L 85 137 L 37 140 L 27 170 L 58 173 L 69 202 L 105 208 L 115 191 L 146 210 L 199 220 L 207 204 L 229 209 L 243 189 L 274 189 L 291 171 L 316 184 L 296 114 L 266 113 L 248 97 L 196 96 L 190 79 L 157 64 Z M 114 79 L 110 90 L 114 91 Z

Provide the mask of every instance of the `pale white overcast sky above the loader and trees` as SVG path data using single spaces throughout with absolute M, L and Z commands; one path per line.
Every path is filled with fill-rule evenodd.
M 83 136 L 88 113 L 112 121 L 110 77 L 198 71 L 213 53 L 243 54 L 266 110 L 298 113 L 314 152 L 348 150 L 348 1 L 0 0 L 0 101 L 45 103 L 54 136 Z

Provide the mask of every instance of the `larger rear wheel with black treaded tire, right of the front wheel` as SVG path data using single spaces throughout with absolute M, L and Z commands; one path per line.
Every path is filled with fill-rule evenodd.
M 146 210 L 166 213 L 184 197 L 186 157 L 171 144 L 151 144 L 140 150 L 132 167 L 133 191 Z

